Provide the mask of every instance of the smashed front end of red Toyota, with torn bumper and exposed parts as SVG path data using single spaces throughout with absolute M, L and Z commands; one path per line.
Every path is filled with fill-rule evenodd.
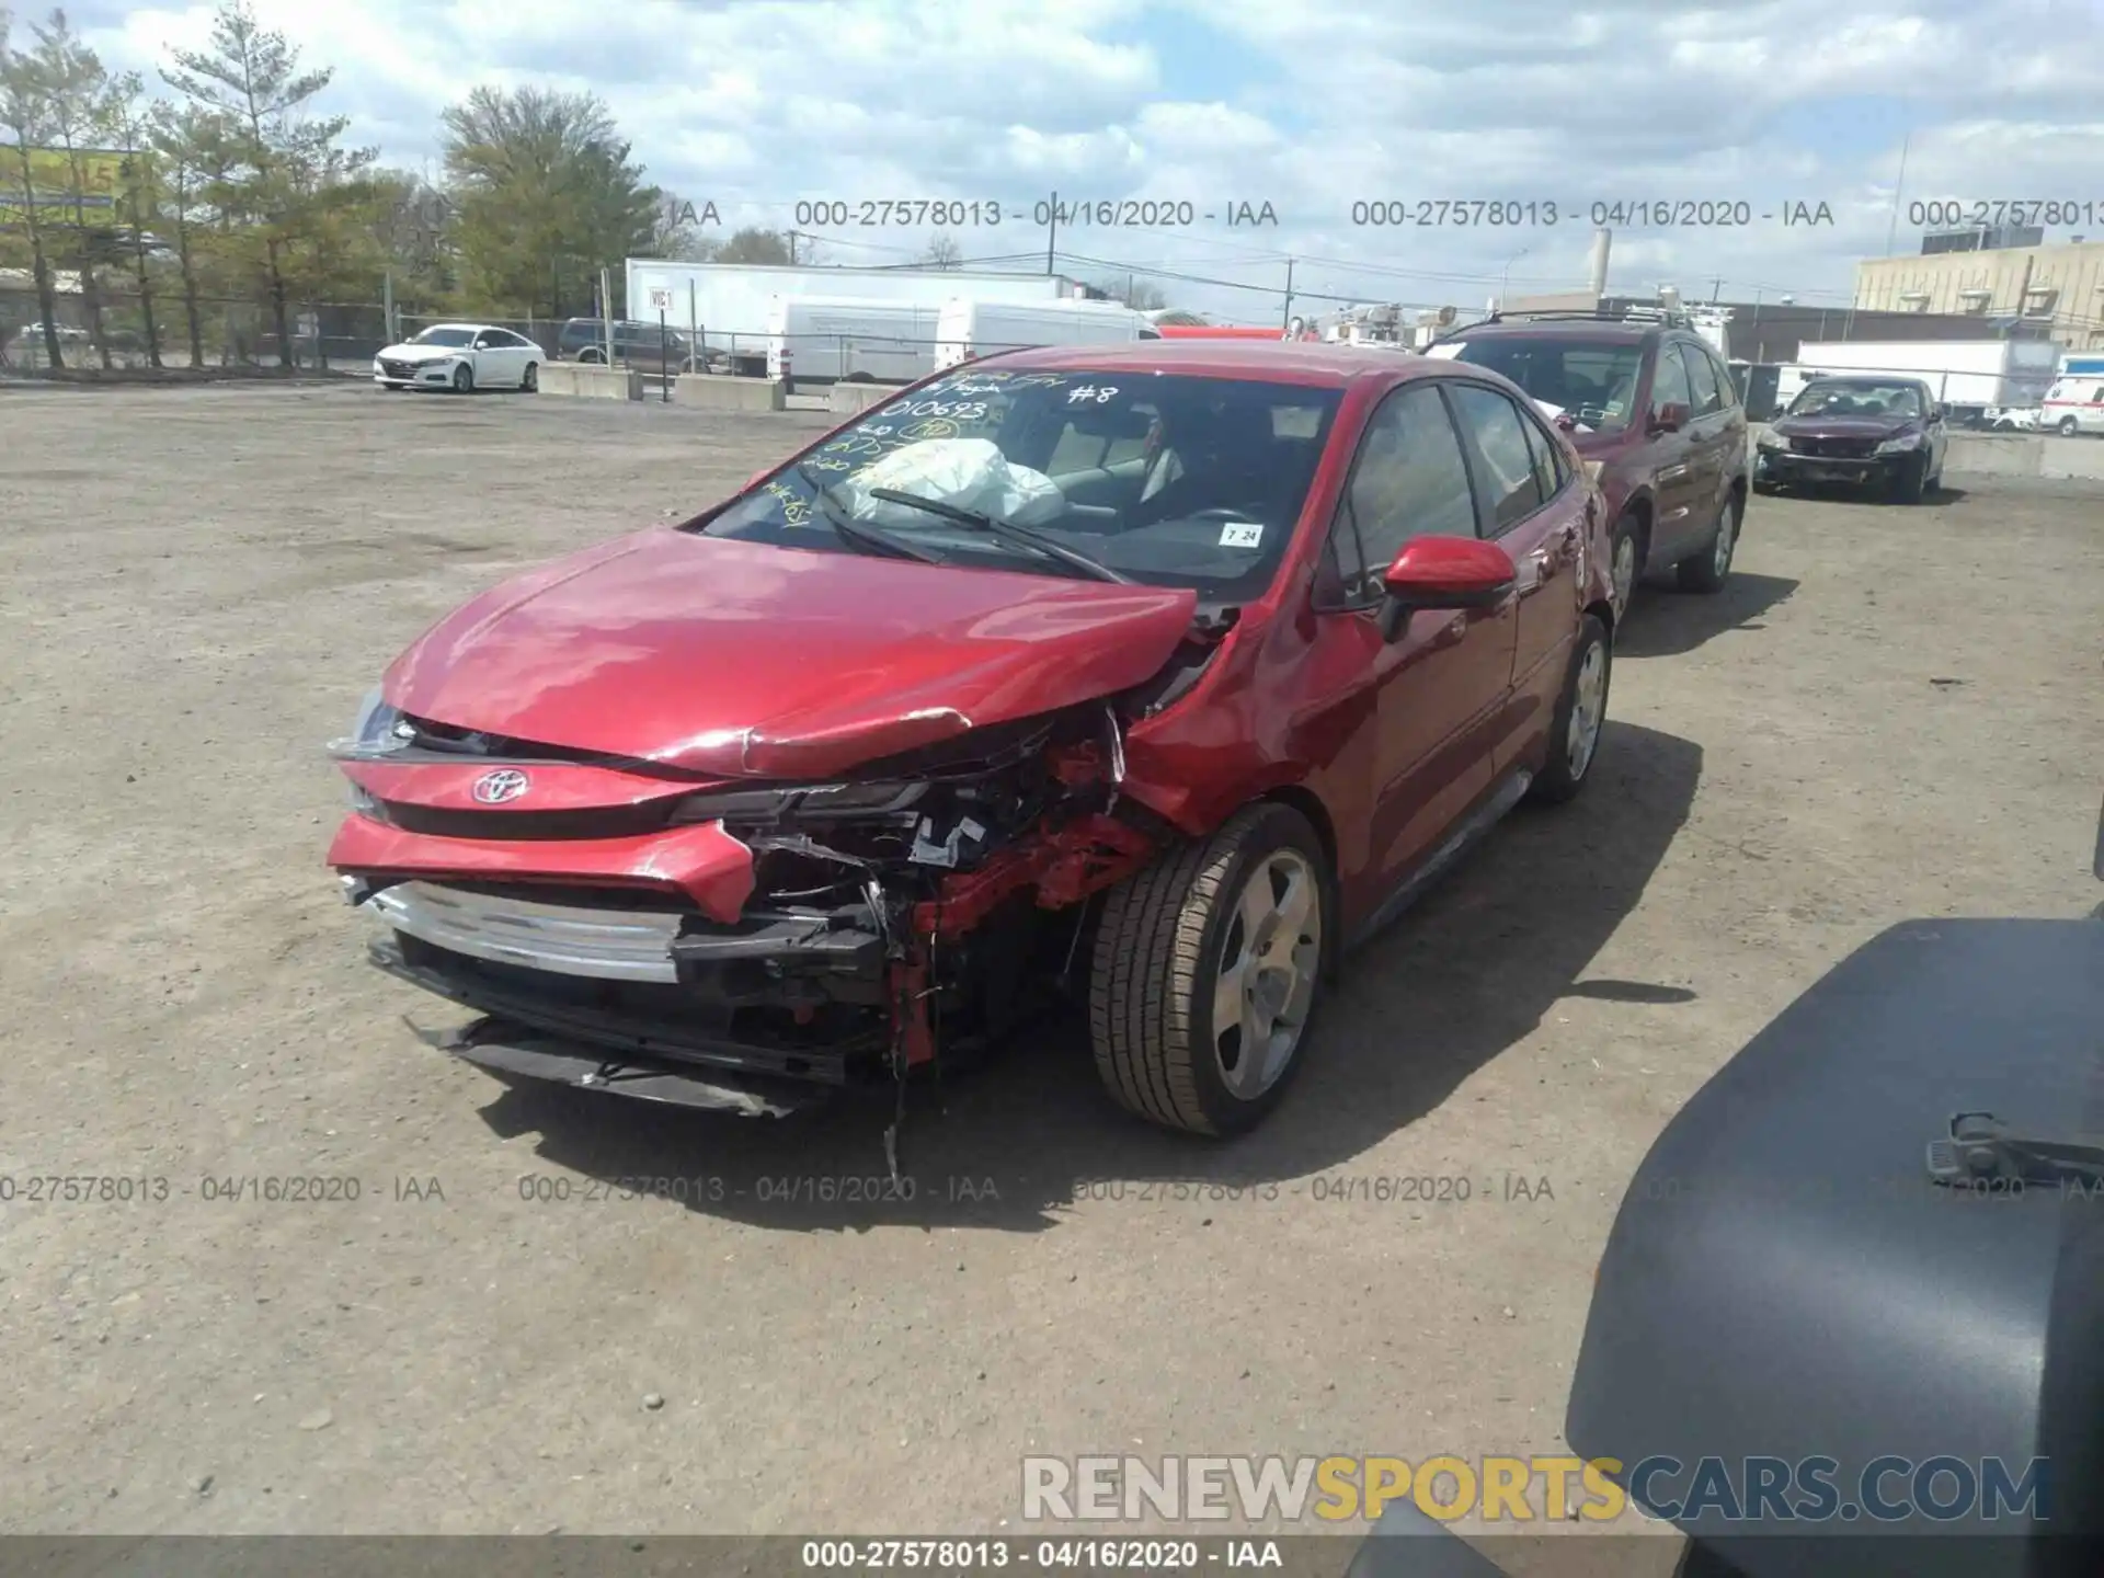
M 370 722 L 370 720 L 364 720 Z M 1010 1031 L 1159 825 L 1107 701 L 833 781 L 715 778 L 389 715 L 337 747 L 372 962 L 501 1073 L 783 1113 Z M 532 806 L 528 810 L 526 806 Z

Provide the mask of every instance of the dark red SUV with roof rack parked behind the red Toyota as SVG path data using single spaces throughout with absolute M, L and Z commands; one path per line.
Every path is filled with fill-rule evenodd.
M 1502 372 L 1555 419 L 1614 522 L 1614 606 L 1673 570 L 1721 591 L 1746 518 L 1746 410 L 1723 358 L 1679 313 L 1506 313 L 1427 347 Z

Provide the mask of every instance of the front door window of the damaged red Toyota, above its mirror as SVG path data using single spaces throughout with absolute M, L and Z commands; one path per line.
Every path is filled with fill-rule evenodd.
M 1359 440 L 1332 524 L 1344 595 L 1378 593 L 1382 572 L 1412 537 L 1475 537 L 1469 463 L 1433 383 L 1391 393 Z

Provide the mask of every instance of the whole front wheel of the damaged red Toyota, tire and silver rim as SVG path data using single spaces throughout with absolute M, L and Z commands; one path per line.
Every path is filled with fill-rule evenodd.
M 1088 985 L 1111 1096 L 1191 1134 L 1262 1121 L 1304 1060 L 1334 917 L 1321 839 L 1277 804 L 1113 888 Z

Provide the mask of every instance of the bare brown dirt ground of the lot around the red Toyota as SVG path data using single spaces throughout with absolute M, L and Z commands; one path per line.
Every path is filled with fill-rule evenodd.
M 1900 917 L 2100 896 L 2104 503 L 1955 476 L 1757 499 L 1723 598 L 1650 593 L 1586 797 L 1359 955 L 1246 1142 L 1119 1117 L 1071 1025 L 915 1117 L 913 1203 L 812 1182 L 882 1172 L 869 1111 L 452 1065 L 322 867 L 322 743 L 476 589 L 825 423 L 0 391 L 0 1530 L 987 1532 L 1029 1452 L 1555 1452 L 1696 1086 Z M 1427 1176 L 1471 1199 L 1378 1197 Z

